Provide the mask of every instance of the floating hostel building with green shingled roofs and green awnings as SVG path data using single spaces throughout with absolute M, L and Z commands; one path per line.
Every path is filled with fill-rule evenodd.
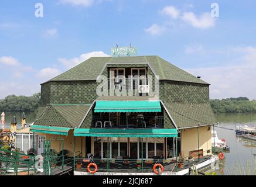
M 215 159 L 209 84 L 158 56 L 91 57 L 44 82 L 41 104 L 37 153 L 65 150 L 74 175 L 90 162 L 94 175 L 151 175 L 156 163 L 187 174 Z

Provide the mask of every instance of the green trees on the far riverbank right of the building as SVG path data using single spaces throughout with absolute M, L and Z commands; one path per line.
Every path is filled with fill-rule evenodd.
M 256 100 L 250 101 L 246 97 L 211 99 L 210 103 L 214 113 L 256 112 Z

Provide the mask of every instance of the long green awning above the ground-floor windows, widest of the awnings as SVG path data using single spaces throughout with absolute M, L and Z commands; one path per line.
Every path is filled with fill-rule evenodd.
M 74 129 L 74 136 L 178 137 L 177 129 Z

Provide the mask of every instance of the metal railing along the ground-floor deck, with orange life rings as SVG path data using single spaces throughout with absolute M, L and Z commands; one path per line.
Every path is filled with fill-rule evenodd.
M 75 159 L 76 164 L 80 162 L 80 168 L 74 167 L 74 171 L 87 172 L 87 166 L 90 163 L 97 164 L 97 172 L 153 172 L 153 165 L 162 164 L 163 172 L 179 172 L 186 168 L 192 168 L 194 165 L 200 164 L 209 160 L 212 154 L 209 151 L 203 151 L 203 155 L 199 157 L 183 157 L 168 158 L 168 159 L 114 159 L 114 158 L 79 158 Z M 183 167 L 178 165 L 183 160 Z M 76 165 L 74 164 L 74 165 Z M 91 167 L 91 170 L 94 168 Z

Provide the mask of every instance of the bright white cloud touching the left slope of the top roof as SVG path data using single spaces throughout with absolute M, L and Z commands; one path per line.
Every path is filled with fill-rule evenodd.
M 108 54 L 105 54 L 103 51 L 93 51 L 90 53 L 81 54 L 79 57 L 74 57 L 71 59 L 59 58 L 60 63 L 64 65 L 66 68 L 72 68 L 77 64 L 82 63 L 90 57 L 109 57 Z

